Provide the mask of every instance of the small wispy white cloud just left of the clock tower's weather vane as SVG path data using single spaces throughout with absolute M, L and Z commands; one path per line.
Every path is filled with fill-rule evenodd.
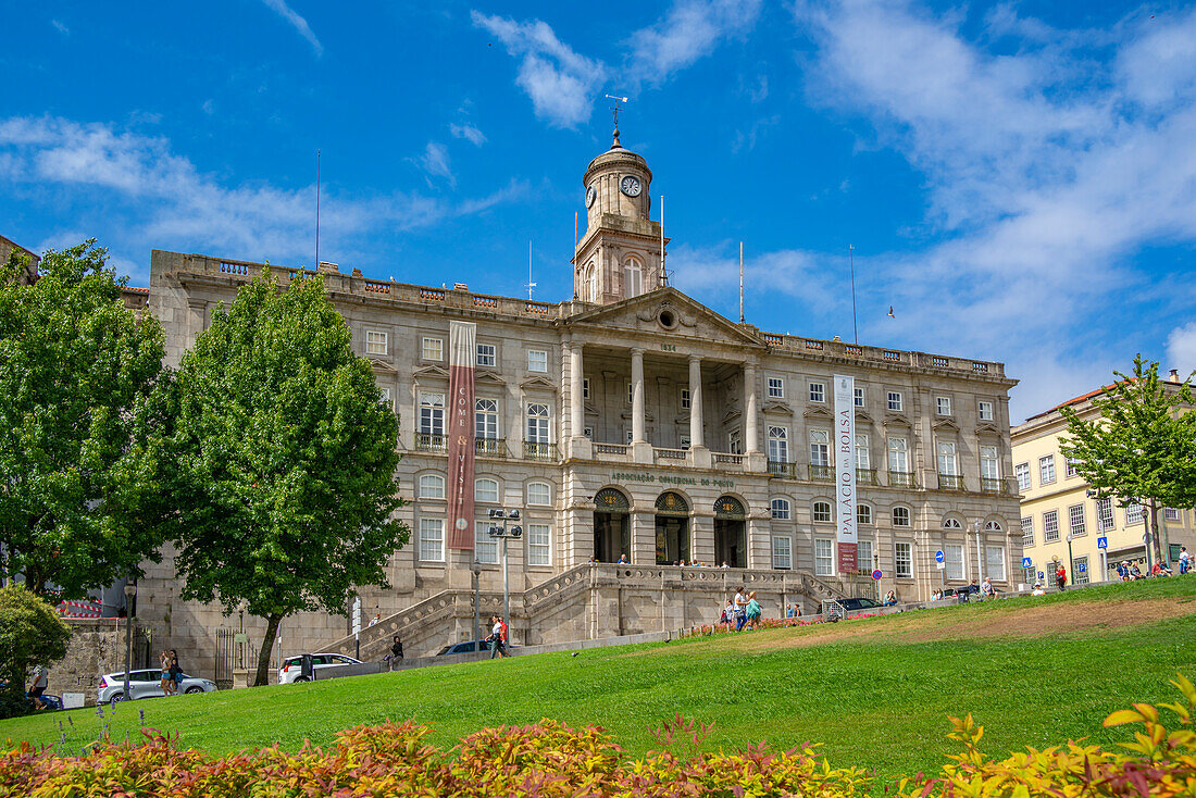
M 471 18 L 474 25 L 502 42 L 507 53 L 521 59 L 515 83 L 527 92 L 536 116 L 563 128 L 590 118 L 592 96 L 606 77 L 600 61 L 574 53 L 538 19 L 518 23 L 477 11 Z

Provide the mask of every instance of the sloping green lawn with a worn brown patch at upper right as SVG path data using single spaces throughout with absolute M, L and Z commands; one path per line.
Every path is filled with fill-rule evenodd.
M 956 625 L 999 625 L 1030 607 L 1165 598 L 1190 605 L 1183 617 L 1111 631 L 1093 628 L 1044 636 L 954 636 Z M 542 717 L 605 726 L 633 754 L 655 745 L 649 732 L 681 712 L 715 731 L 706 748 L 768 739 L 788 747 L 824 743 L 836 763 L 884 774 L 936 770 L 946 715 L 971 712 L 986 725 L 984 744 L 1005 754 L 1069 737 L 1125 739 L 1100 721 L 1129 701 L 1172 700 L 1177 670 L 1196 677 L 1196 578 L 1096 587 L 1037 599 L 1014 599 L 853 621 L 861 632 L 810 647 L 776 646 L 826 627 L 756 632 L 672 644 L 523 657 L 431 668 L 315 684 L 237 690 L 173 700 L 138 701 L 110 718 L 114 737 L 146 724 L 212 753 L 305 738 L 327 744 L 336 730 L 384 718 L 415 719 L 448 747 L 483 726 Z M 916 628 L 915 628 L 916 627 Z M 947 639 L 923 639 L 927 628 Z M 963 633 L 960 633 L 963 634 Z M 762 651 L 744 648 L 762 647 Z M 94 709 L 71 713 L 68 747 L 94 739 Z M 59 741 L 62 714 L 0 721 L 0 739 Z

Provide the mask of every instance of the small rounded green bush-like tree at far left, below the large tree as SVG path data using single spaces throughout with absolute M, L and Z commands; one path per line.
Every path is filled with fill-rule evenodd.
M 24 585 L 0 587 L 0 718 L 28 708 L 25 680 L 30 665 L 49 665 L 67 656 L 71 627 L 57 611 Z

